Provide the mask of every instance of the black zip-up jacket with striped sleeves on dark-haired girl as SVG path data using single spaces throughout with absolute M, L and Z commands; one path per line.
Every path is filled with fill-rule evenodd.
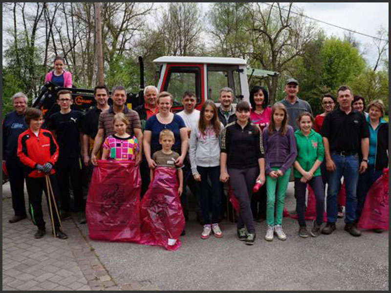
M 258 166 L 264 157 L 262 133 L 258 126 L 247 123 L 242 128 L 238 121 L 225 126 L 221 137 L 221 152 L 227 154 L 227 167 L 247 169 Z

